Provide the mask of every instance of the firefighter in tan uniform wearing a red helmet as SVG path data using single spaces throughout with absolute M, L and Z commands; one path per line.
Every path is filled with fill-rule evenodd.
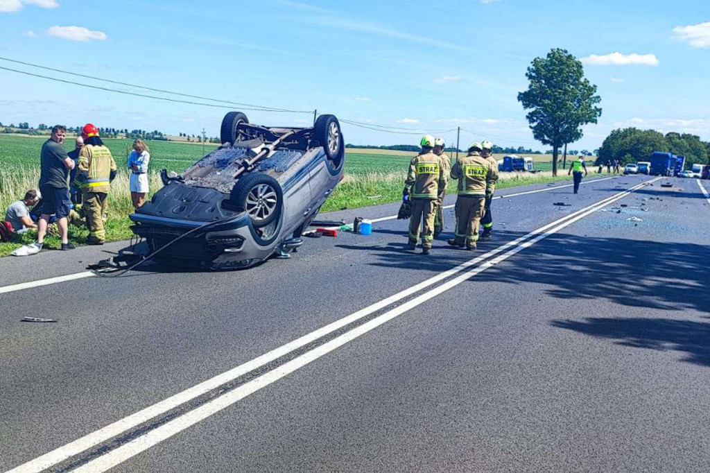
M 111 151 L 99 138 L 99 130 L 92 124 L 82 129 L 84 148 L 79 154 L 76 182 L 82 188 L 82 208 L 89 226 L 88 244 L 102 245 L 106 230 L 102 219 L 106 212 L 111 181 L 116 178 L 116 162 Z

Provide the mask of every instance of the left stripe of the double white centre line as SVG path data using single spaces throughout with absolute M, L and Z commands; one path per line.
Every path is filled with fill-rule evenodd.
M 652 181 L 648 181 L 647 183 L 650 182 Z M 643 187 L 643 185 L 646 185 L 647 183 L 640 183 L 639 185 L 631 187 L 630 190 L 635 190 L 639 187 Z M 610 197 L 606 197 L 606 199 L 596 202 L 591 207 L 596 208 L 600 205 L 606 205 L 608 201 L 611 201 L 616 198 L 621 198 L 618 197 L 621 194 L 623 194 L 623 192 L 621 192 L 620 194 L 612 195 Z M 225 371 L 222 374 L 214 376 L 214 378 L 212 379 L 203 381 L 202 383 L 197 384 L 192 388 L 188 388 L 185 391 L 170 396 L 170 398 L 166 398 L 165 400 L 160 401 L 159 403 L 155 403 L 153 404 L 153 406 L 149 406 L 148 408 L 133 413 L 128 417 L 118 420 L 115 423 L 109 424 L 102 429 L 89 433 L 88 435 L 85 435 L 84 437 L 81 437 L 66 445 L 63 445 L 62 447 L 58 447 L 57 449 L 48 452 L 45 455 L 42 455 L 40 457 L 35 458 L 34 460 L 21 464 L 20 466 L 10 470 L 8 473 L 37 473 L 41 472 L 43 469 L 52 467 L 55 464 L 63 462 L 64 460 L 67 460 L 67 458 L 73 457 L 74 455 L 78 455 L 81 452 L 88 450 L 89 448 L 95 447 L 96 445 L 99 445 L 100 443 L 109 440 L 111 437 L 120 435 L 121 433 L 124 433 L 127 430 L 130 430 L 131 428 L 135 428 L 137 425 L 141 425 L 142 423 L 145 423 L 148 420 L 157 417 L 158 415 L 166 413 L 172 410 L 173 408 L 176 408 L 188 401 L 191 401 L 194 398 L 202 396 L 204 393 L 212 391 L 212 389 L 217 388 L 218 386 L 222 386 L 222 384 L 226 384 L 229 381 L 234 381 L 234 379 L 239 378 L 239 376 L 242 376 L 246 373 L 249 373 L 249 371 L 253 371 L 254 369 L 264 366 L 265 364 L 268 364 L 271 361 L 274 361 L 275 359 L 283 357 L 284 355 L 293 352 L 295 349 L 303 347 L 309 344 L 310 342 L 313 342 L 321 337 L 324 337 L 325 335 L 339 330 L 340 328 L 346 325 L 349 325 L 352 322 L 355 322 L 356 320 L 360 320 L 361 318 L 366 317 L 374 312 L 377 312 L 378 310 L 386 308 L 389 305 L 397 302 L 398 300 L 407 298 L 408 296 L 413 295 L 429 286 L 432 286 L 433 284 L 438 283 L 439 281 L 444 281 L 444 279 L 454 276 L 454 274 L 464 271 L 464 269 L 476 265 L 481 261 L 490 258 L 491 256 L 495 256 L 496 254 L 499 254 L 502 251 L 505 251 L 506 249 L 510 249 L 514 246 L 517 246 L 521 242 L 525 241 L 525 239 L 535 237 L 536 235 L 546 232 L 548 229 L 555 227 L 555 225 L 558 225 L 561 222 L 566 221 L 567 219 L 572 219 L 580 214 L 583 214 L 584 212 L 588 212 L 591 207 L 585 207 L 584 209 L 578 210 L 577 212 L 573 212 L 572 214 L 557 219 L 555 220 L 555 222 L 551 222 L 550 224 L 536 229 L 534 232 L 530 232 L 529 234 L 526 234 L 523 237 L 519 237 L 518 239 L 510 241 L 507 244 L 503 244 L 496 249 L 488 251 L 486 254 L 477 256 L 476 258 L 466 261 L 465 263 L 461 263 L 459 266 L 449 269 L 448 271 L 444 271 L 443 273 L 439 273 L 437 274 L 437 276 L 433 276 L 432 278 L 422 281 L 421 283 L 407 288 L 401 291 L 400 293 L 391 295 L 386 299 L 369 305 L 368 307 L 358 310 L 357 312 L 354 312 L 351 315 L 343 317 L 342 319 L 332 322 L 331 324 L 326 325 L 318 330 L 315 330 L 314 332 L 310 332 L 307 335 L 295 339 L 293 340 L 293 342 L 289 342 L 288 344 L 285 344 L 282 347 L 273 349 L 271 352 L 263 354 L 260 357 L 252 359 L 251 361 L 247 361 L 246 363 L 236 366 L 235 368 L 229 371 Z

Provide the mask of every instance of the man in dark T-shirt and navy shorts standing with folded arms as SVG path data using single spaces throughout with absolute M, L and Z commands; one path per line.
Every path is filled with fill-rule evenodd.
M 28 245 L 26 254 L 39 253 L 44 245 L 50 217 L 56 217 L 62 250 L 74 249 L 69 242 L 69 222 L 67 216 L 72 201 L 69 197 L 69 173 L 74 168 L 74 161 L 64 149 L 67 129 L 61 125 L 52 128 L 52 135 L 42 146 L 40 168 L 40 194 L 42 210 L 37 222 L 37 243 Z

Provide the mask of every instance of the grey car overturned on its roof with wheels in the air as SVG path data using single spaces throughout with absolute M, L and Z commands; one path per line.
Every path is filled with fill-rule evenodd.
M 221 140 L 181 175 L 163 170 L 164 187 L 131 214 L 131 229 L 158 261 L 223 270 L 285 256 L 343 177 L 333 115 L 311 128 L 282 128 L 229 112 Z

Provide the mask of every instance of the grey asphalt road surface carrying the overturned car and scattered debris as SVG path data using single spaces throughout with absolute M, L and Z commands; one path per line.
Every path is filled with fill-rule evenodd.
M 55 449 L 61 460 L 88 435 L 47 471 L 707 472 L 710 206 L 676 179 L 593 206 L 644 180 L 497 200 L 496 238 L 475 254 L 445 244 L 449 210 L 428 257 L 404 251 L 405 222 L 388 220 L 248 271 L 148 266 L 0 294 L 0 471 Z M 0 259 L 0 288 L 121 246 Z

